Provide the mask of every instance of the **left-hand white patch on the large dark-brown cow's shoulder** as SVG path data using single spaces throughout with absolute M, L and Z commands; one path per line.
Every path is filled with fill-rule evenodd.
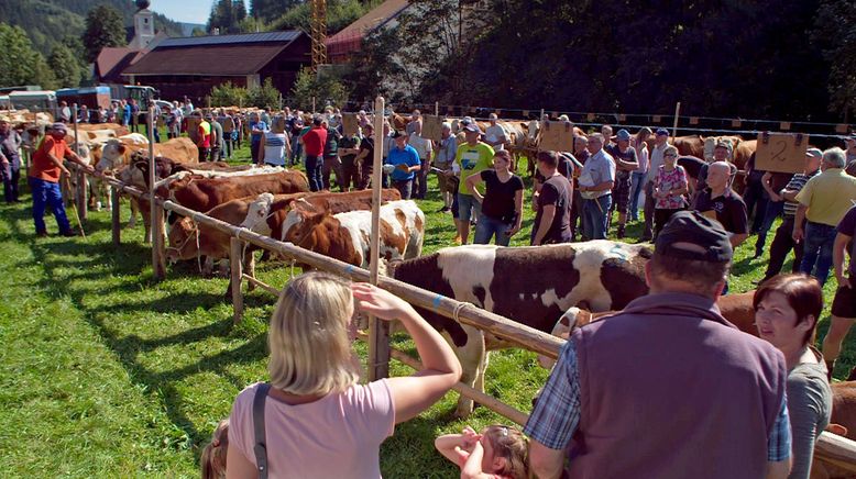
M 493 310 L 491 283 L 496 261 L 495 245 L 469 245 L 440 249 L 437 263 L 443 279 L 454 291 L 459 301 L 480 304 L 487 311 Z M 473 293 L 476 287 L 484 288 L 484 304 Z

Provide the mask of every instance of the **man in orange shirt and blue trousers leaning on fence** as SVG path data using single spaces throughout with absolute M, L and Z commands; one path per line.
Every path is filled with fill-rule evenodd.
M 47 236 L 45 227 L 45 205 L 51 207 L 51 211 L 56 218 L 56 224 L 59 226 L 59 234 L 63 236 L 74 236 L 75 232 L 68 223 L 63 204 L 63 193 L 59 190 L 59 178 L 62 175 L 68 176 L 68 169 L 63 165 L 63 159 L 77 163 L 88 170 L 92 168 L 84 163 L 77 156 L 68 144 L 65 143 L 67 134 L 65 124 L 54 123 L 47 131 L 42 144 L 33 154 L 33 164 L 30 167 L 30 189 L 33 191 L 33 221 L 35 222 L 35 234 L 40 237 Z

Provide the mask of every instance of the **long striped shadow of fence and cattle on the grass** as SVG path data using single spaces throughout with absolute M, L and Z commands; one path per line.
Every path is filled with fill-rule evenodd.
M 103 319 L 129 312 L 187 313 L 198 308 L 208 309 L 222 304 L 222 294 L 160 289 L 158 291 L 163 292 L 161 298 L 134 301 L 134 293 L 139 293 L 141 289 L 157 288 L 151 277 L 141 275 L 141 271 L 147 268 L 151 248 L 135 242 L 113 246 L 111 243 L 97 243 L 92 238 L 79 237 L 35 241 L 32 233 L 21 231 L 20 225 L 17 224 L 15 220 L 28 216 L 25 213 L 24 209 L 10 210 L 4 211 L 3 216 L 11 225 L 12 239 L 29 244 L 33 254 L 33 258 L 21 261 L 21 266 L 34 263 L 44 270 L 43 279 L 37 287 L 42 288 L 48 297 L 69 298 L 75 308 L 83 313 L 85 321 L 119 357 L 131 380 L 145 386 L 147 393 L 154 394 L 156 400 L 163 403 L 168 420 L 184 431 L 193 444 L 207 441 L 208 435 L 200 433 L 185 414 L 184 411 L 188 409 L 189 403 L 183 398 L 177 383 L 189 376 L 213 372 L 231 382 L 237 389 L 243 389 L 246 386 L 245 380 L 229 372 L 228 369 L 237 364 L 254 363 L 266 357 L 266 335 L 253 334 L 249 341 L 241 342 L 238 347 L 204 355 L 199 360 L 183 367 L 161 372 L 147 369 L 140 363 L 140 354 L 162 347 L 191 345 L 210 337 L 228 337 L 233 331 L 231 315 L 227 320 L 149 339 L 135 334 L 122 335 L 121 331 L 109 326 Z M 109 229 L 109 222 L 105 224 Z M 132 280 L 106 288 L 99 285 L 92 288 L 80 285 L 80 281 L 97 281 L 107 276 L 112 278 L 125 276 Z M 179 275 L 179 278 L 180 276 L 185 275 Z M 190 276 L 189 271 L 187 276 Z M 86 300 L 90 294 L 103 298 L 113 293 L 130 300 L 109 305 L 90 305 Z M 248 308 L 261 308 L 270 302 L 270 300 L 264 301 L 264 298 L 249 297 L 245 304 Z M 199 450 L 196 450 L 196 454 L 199 454 Z

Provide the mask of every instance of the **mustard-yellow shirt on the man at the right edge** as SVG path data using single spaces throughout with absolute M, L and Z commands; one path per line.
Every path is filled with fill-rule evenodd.
M 809 207 L 805 218 L 814 223 L 837 226 L 856 200 L 856 178 L 841 168 L 828 168 L 810 179 L 797 194 Z

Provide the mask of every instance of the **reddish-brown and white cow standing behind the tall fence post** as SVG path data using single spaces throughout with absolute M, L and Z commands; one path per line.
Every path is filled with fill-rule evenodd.
M 369 267 L 372 213 L 350 211 L 333 214 L 307 208 L 298 200 L 286 215 L 286 239 L 305 249 L 366 268 Z M 411 259 L 422 252 L 425 213 L 414 201 L 392 201 L 381 207 L 380 257 L 385 261 Z

